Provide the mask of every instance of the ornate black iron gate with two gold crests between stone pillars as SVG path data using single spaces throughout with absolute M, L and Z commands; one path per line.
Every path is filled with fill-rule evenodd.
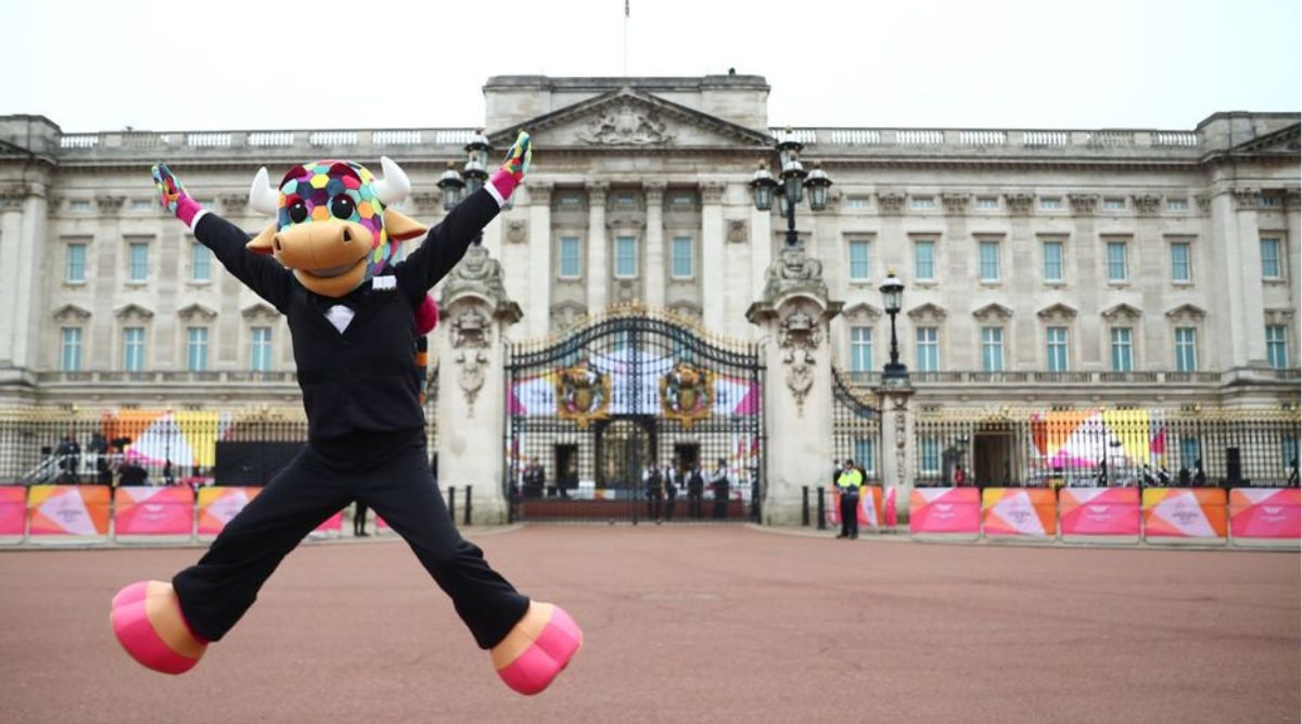
M 505 494 L 527 521 L 759 520 L 763 366 L 755 345 L 616 309 L 506 348 Z M 654 495 L 652 464 L 677 474 Z M 727 484 L 712 484 L 723 466 Z M 691 495 L 699 465 L 703 490 Z M 661 486 L 663 488 L 663 486 Z M 720 494 L 716 500 L 716 492 Z

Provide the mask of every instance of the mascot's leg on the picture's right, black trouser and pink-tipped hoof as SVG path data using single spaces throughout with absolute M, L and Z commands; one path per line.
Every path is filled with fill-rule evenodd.
M 411 546 L 508 686 L 536 694 L 569 664 L 583 642 L 578 625 L 559 606 L 517 592 L 461 538 L 422 448 L 372 475 L 359 497 Z

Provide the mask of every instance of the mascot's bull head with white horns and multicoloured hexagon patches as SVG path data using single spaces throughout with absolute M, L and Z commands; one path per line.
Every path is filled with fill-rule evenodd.
M 275 215 L 276 223 L 249 242 L 249 249 L 272 254 L 307 289 L 342 297 L 384 271 L 397 242 L 418 237 L 426 228 L 387 208 L 406 198 L 411 182 L 388 158 L 380 159 L 384 178 L 353 161 L 323 160 L 289 169 L 280 189 L 272 189 L 263 167 L 249 190 L 249 206 Z

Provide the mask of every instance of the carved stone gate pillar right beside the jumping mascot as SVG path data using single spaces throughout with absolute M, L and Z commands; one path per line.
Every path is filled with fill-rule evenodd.
M 501 264 L 475 245 L 444 283 L 435 337 L 439 365 L 439 486 L 471 488 L 471 522 L 506 522 L 503 495 L 505 374 L 503 335 L 522 313 L 506 297 Z

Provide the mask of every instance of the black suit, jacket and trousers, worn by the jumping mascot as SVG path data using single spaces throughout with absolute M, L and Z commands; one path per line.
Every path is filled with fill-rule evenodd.
M 197 565 L 172 579 L 197 634 L 225 635 L 280 560 L 355 499 L 411 546 L 480 647 L 499 643 L 529 609 L 448 520 L 430 471 L 413 363 L 415 310 L 496 215 L 488 191 L 471 194 L 384 272 L 392 280 L 368 281 L 344 299 L 314 294 L 273 258 L 246 250 L 249 236 L 228 221 L 206 214 L 194 224 L 195 238 L 288 318 L 309 426 L 307 445 Z M 354 310 L 342 332 L 324 316 L 337 303 Z

